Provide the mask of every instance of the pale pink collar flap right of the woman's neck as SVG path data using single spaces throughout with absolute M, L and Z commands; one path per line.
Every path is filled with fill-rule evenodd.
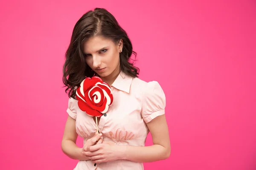
M 125 91 L 126 93 L 130 93 L 132 79 L 133 77 L 121 71 L 111 86 L 113 86 L 114 88 L 117 88 L 120 91 Z

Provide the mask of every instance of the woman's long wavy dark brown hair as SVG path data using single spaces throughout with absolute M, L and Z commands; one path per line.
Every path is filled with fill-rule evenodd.
M 90 37 L 102 36 L 118 43 L 123 40 L 122 53 L 120 53 L 120 68 L 131 77 L 138 77 L 139 68 L 131 62 L 131 55 L 135 58 L 137 53 L 133 51 L 132 44 L 125 30 L 119 26 L 115 17 L 104 8 L 95 8 L 94 11 L 85 13 L 76 23 L 70 45 L 65 54 L 63 66 L 63 83 L 68 96 L 75 98 L 76 87 L 85 79 L 93 77 L 95 72 L 86 64 L 83 54 L 83 44 Z M 134 60 L 134 59 L 133 59 Z

